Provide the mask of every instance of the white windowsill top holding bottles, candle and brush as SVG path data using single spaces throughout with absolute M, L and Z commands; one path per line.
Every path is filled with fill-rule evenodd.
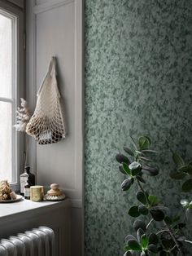
M 27 214 L 33 212 L 43 212 L 48 209 L 58 208 L 60 206 L 68 206 L 68 199 L 64 201 L 30 201 L 23 199 L 21 201 L 16 201 L 14 203 L 1 203 L 0 204 L 0 220 L 3 218 L 11 217 L 15 214 Z

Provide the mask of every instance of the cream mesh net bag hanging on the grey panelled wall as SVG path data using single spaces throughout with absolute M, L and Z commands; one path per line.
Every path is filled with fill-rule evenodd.
M 65 138 L 55 65 L 55 57 L 52 57 L 48 73 L 37 92 L 35 111 L 26 127 L 27 134 L 33 136 L 39 144 L 56 143 Z

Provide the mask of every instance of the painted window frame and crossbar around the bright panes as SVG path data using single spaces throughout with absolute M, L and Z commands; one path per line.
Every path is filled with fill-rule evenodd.
M 24 79 L 25 79 L 25 60 L 24 60 L 24 10 L 20 7 L 0 0 L 0 13 L 15 19 L 15 42 L 13 41 L 13 54 L 15 64 L 13 63 L 12 81 L 12 99 L 0 98 L 2 102 L 8 102 L 12 105 L 12 123 L 16 121 L 16 108 L 20 105 L 20 98 L 24 98 Z M 14 31 L 13 31 L 14 33 Z M 12 180 L 11 188 L 14 191 L 20 190 L 20 172 L 24 171 L 24 134 L 15 131 L 12 127 Z

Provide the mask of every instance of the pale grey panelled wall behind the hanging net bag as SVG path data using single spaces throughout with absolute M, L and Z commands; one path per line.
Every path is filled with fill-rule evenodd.
M 27 99 L 34 109 L 36 94 L 55 55 L 59 90 L 68 135 L 59 143 L 37 145 L 29 139 L 29 166 L 37 183 L 59 183 L 72 200 L 72 239 L 81 245 L 83 188 L 82 0 L 27 1 Z M 78 229 L 76 230 L 76 227 Z M 76 246 L 73 254 L 81 255 Z

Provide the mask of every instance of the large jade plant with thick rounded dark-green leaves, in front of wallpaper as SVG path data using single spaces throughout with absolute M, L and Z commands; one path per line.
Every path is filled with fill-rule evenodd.
M 131 139 L 134 149 L 124 147 L 126 155 L 116 155 L 116 161 L 120 163 L 119 170 L 126 175 L 126 179 L 121 183 L 122 190 L 126 192 L 137 188 L 137 203 L 128 211 L 128 214 L 135 218 L 135 235 L 129 234 L 125 237 L 124 256 L 184 255 L 183 244 L 191 243 L 185 239 L 183 233 L 185 223 L 181 222 L 178 215 L 171 215 L 171 210 L 158 196 L 146 189 L 147 175 L 159 174 L 159 166 L 152 160 L 157 152 L 151 149 L 150 138 L 139 137 L 137 143 L 132 137 Z M 180 171 L 186 172 L 186 169 Z

